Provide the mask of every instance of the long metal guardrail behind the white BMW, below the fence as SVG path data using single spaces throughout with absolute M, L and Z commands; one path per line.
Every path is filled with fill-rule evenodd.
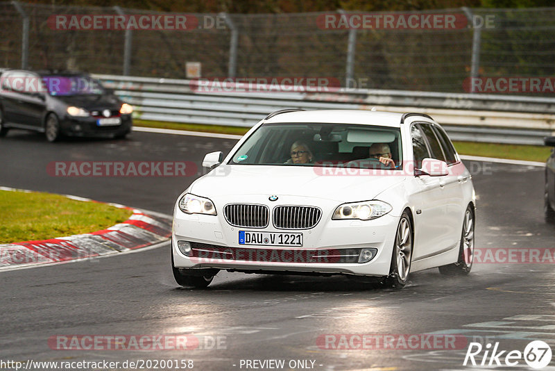
M 542 145 L 555 135 L 555 98 L 340 89 L 326 92 L 239 92 L 232 85 L 199 92 L 196 80 L 95 75 L 144 120 L 253 126 L 281 108 L 372 109 L 427 113 L 454 140 Z M 221 91 L 226 90 L 226 91 Z

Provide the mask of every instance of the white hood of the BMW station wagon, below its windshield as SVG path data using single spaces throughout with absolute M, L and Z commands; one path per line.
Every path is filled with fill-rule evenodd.
M 404 181 L 400 172 L 324 172 L 322 167 L 220 165 L 197 179 L 189 192 L 203 197 L 229 195 L 293 195 L 340 202 L 373 199 Z

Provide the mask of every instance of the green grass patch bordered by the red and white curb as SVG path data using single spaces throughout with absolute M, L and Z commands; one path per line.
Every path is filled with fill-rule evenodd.
M 0 243 L 46 240 L 108 228 L 131 211 L 42 192 L 0 190 Z

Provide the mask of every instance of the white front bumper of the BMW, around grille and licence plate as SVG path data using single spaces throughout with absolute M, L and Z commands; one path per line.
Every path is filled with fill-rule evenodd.
M 264 198 L 263 198 L 264 197 Z M 248 201 L 247 201 L 248 199 Z M 266 201 L 264 201 L 264 199 Z M 214 200 L 213 200 L 214 201 Z M 225 200 L 230 201 L 230 200 Z M 312 205 L 323 216 L 312 229 L 276 229 L 270 222 L 264 229 L 231 226 L 223 216 L 223 205 L 214 201 L 218 215 L 189 215 L 176 206 L 173 218 L 172 250 L 174 266 L 188 269 L 216 268 L 243 272 L 306 272 L 321 274 L 357 274 L 385 276 L 389 273 L 393 243 L 399 218 L 387 214 L 375 220 L 332 220 L 339 204 L 319 199 L 280 197 L 280 204 Z M 266 195 L 234 197 L 234 203 L 266 204 L 270 211 L 278 204 L 269 203 Z M 272 215 L 272 213 L 270 212 Z M 303 233 L 302 247 L 239 245 L 239 231 Z M 182 254 L 178 241 L 193 242 L 193 256 Z M 368 263 L 358 263 L 360 249 L 375 248 L 377 254 Z M 214 251 L 218 252 L 214 254 Z M 212 252 L 212 253 L 211 253 Z M 341 257 L 339 257 L 341 256 Z M 316 258 L 315 258 L 316 257 Z

